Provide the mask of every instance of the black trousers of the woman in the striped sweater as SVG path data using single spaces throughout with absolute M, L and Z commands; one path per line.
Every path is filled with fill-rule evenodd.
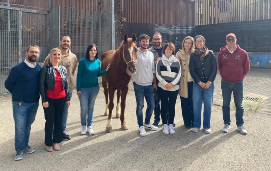
M 168 124 L 173 124 L 175 117 L 175 104 L 178 96 L 178 91 L 167 91 L 158 87 L 158 93 L 161 100 L 161 118 L 163 125 L 167 124 L 167 110 L 168 110 Z

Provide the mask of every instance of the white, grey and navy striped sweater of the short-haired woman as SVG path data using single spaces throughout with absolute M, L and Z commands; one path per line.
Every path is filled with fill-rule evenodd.
M 156 64 L 156 78 L 158 79 L 158 87 L 167 91 L 176 91 L 179 87 L 181 78 L 181 65 L 177 58 L 174 57 L 173 63 L 170 66 L 171 72 L 167 71 L 167 67 L 163 65 L 162 60 Z M 167 83 L 172 83 L 174 86 L 171 89 L 166 88 Z

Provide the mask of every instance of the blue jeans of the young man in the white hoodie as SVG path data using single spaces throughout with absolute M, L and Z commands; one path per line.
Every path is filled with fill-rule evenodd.
M 141 127 L 143 126 L 142 109 L 144 107 L 144 97 L 147 102 L 146 117 L 145 117 L 146 124 L 150 123 L 150 119 L 153 114 L 153 109 L 155 107 L 153 85 L 138 85 L 134 83 L 134 93 L 135 93 L 136 102 L 137 102 L 136 114 L 137 114 L 138 126 Z M 142 93 L 144 93 L 145 95 L 143 95 Z

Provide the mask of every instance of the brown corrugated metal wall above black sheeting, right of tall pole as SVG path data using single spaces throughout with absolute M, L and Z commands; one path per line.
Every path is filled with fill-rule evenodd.
M 188 0 L 124 0 L 129 23 L 195 25 L 195 3 Z

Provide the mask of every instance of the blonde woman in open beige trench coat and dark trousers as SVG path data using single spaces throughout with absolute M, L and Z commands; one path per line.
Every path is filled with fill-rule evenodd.
M 193 37 L 187 36 L 183 39 L 182 50 L 179 50 L 176 54 L 176 58 L 179 59 L 182 76 L 180 80 L 179 95 L 181 98 L 181 107 L 184 126 L 189 129 L 191 125 L 193 126 L 194 116 L 193 116 L 193 101 L 192 101 L 192 91 L 193 91 L 193 78 L 189 71 L 189 60 L 190 55 L 194 52 L 195 42 Z

